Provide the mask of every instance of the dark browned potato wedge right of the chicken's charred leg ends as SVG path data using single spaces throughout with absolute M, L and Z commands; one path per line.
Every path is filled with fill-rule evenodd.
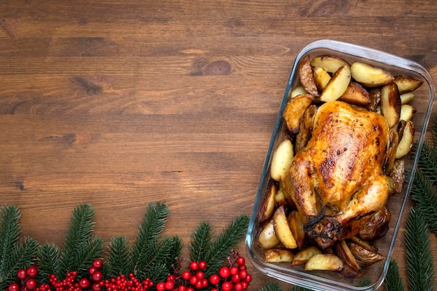
M 383 209 L 369 215 L 369 218 L 360 228 L 358 235 L 367 240 L 382 237 L 387 233 L 391 217 L 390 211 L 384 206 Z

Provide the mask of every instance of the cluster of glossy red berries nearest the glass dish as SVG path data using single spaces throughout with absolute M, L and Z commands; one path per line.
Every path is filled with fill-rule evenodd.
M 238 253 L 228 257 L 228 265 L 221 267 L 218 274 L 205 277 L 206 262 L 191 262 L 190 269 L 180 276 L 169 275 L 165 282 L 156 284 L 157 291 L 242 291 L 249 288 L 252 276 L 246 270 L 246 262 Z M 177 287 L 176 287 L 177 285 Z

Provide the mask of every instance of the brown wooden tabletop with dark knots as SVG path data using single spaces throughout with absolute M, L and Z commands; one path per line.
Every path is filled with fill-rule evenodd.
M 23 235 L 61 244 L 80 203 L 108 241 L 134 239 L 159 200 L 188 244 L 201 220 L 218 232 L 251 214 L 299 49 L 353 42 L 437 80 L 436 31 L 434 0 L 2 0 L 0 204 L 20 207 Z M 249 270 L 251 290 L 269 280 Z

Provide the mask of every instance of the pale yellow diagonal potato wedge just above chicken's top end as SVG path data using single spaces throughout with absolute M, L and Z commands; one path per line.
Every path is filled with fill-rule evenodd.
M 337 100 L 345 93 L 350 83 L 350 68 L 348 65 L 343 65 L 339 68 L 329 83 L 326 85 L 325 89 L 320 94 L 320 100 L 323 102 Z

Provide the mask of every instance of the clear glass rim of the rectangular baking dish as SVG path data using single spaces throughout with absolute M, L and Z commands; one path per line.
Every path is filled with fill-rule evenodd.
M 406 194 L 403 198 L 399 217 L 397 218 L 396 225 L 394 228 L 394 233 L 390 241 L 387 258 L 385 258 L 385 263 L 383 266 L 383 272 L 380 274 L 378 280 L 376 280 L 372 285 L 368 285 L 364 287 L 345 285 L 338 281 L 331 281 L 328 280 L 327 278 L 321 278 L 319 276 L 302 273 L 293 269 L 286 269 L 280 266 L 275 266 L 275 268 L 272 269 L 265 262 L 260 262 L 258 260 L 255 260 L 254 258 L 255 255 L 252 249 L 252 237 L 255 228 L 255 218 L 256 218 L 256 213 L 254 211 L 255 205 L 259 205 L 259 203 L 261 203 L 260 199 L 262 198 L 262 193 L 260 192 L 262 191 L 262 185 L 265 184 L 265 179 L 268 176 L 267 171 L 269 168 L 269 159 L 271 158 L 272 151 L 274 150 L 274 142 L 276 139 L 276 135 L 279 134 L 281 118 L 282 118 L 281 113 L 283 112 L 283 109 L 286 107 L 286 104 L 288 102 L 288 94 L 292 86 L 293 77 L 297 72 L 297 65 L 299 63 L 299 60 L 302 58 L 302 56 L 305 56 L 306 54 L 308 54 L 314 49 L 329 49 L 334 52 L 349 54 L 350 56 L 354 56 L 357 58 L 365 58 L 371 61 L 376 61 L 378 63 L 384 63 L 385 65 L 391 65 L 393 67 L 401 68 L 404 70 L 410 70 L 412 72 L 415 72 L 416 74 L 420 74 L 422 79 L 424 79 L 424 83 L 426 82 L 429 88 L 429 104 L 427 107 L 426 114 L 424 116 L 424 123 L 422 124 L 420 139 L 417 141 L 417 152 L 415 152 L 415 156 L 413 159 L 413 166 L 408 180 L 408 187 L 406 189 Z M 317 290 L 317 291 L 327 290 L 326 288 L 329 288 L 328 290 L 334 290 L 334 291 L 346 291 L 346 290 L 364 291 L 364 290 L 376 290 L 377 288 L 379 288 L 380 285 L 382 285 L 384 278 L 387 274 L 390 258 L 392 255 L 392 251 L 394 249 L 394 243 L 397 237 L 397 233 L 399 231 L 399 226 L 401 224 L 402 213 L 405 210 L 405 205 L 410 195 L 411 185 L 415 175 L 415 169 L 417 168 L 417 162 L 420 156 L 420 151 L 424 143 L 425 132 L 427 131 L 429 118 L 431 116 L 431 109 L 434 101 L 434 95 L 435 95 L 435 87 L 434 87 L 434 80 L 431 77 L 431 74 L 429 74 L 429 72 L 419 63 L 410 61 L 406 58 L 402 58 L 394 54 L 383 52 L 378 49 L 372 49 L 370 47 L 364 47 L 361 45 L 354 45 L 349 42 L 341 42 L 338 40 L 327 40 L 327 39 L 315 40 L 313 42 L 310 42 L 305 47 L 303 47 L 299 51 L 299 53 L 295 57 L 295 61 L 293 62 L 292 70 L 290 72 L 290 77 L 288 78 L 288 84 L 286 86 L 286 91 L 284 92 L 283 100 L 279 108 L 279 113 L 278 116 L 276 117 L 276 123 L 272 132 L 269 148 L 267 149 L 267 155 L 265 157 L 264 166 L 262 167 L 261 178 L 258 184 L 258 190 L 253 204 L 254 207 L 253 207 L 253 212 L 251 214 L 251 220 L 249 222 L 249 228 L 246 233 L 246 252 L 249 254 L 248 257 L 249 260 L 251 260 L 251 263 L 261 272 L 265 273 L 267 276 L 271 276 L 272 278 L 278 278 L 279 280 L 285 281 L 287 283 L 301 285 L 302 287 L 305 288 L 314 288 L 313 290 Z M 286 274 L 280 273 L 279 270 L 281 269 L 283 269 L 284 272 L 286 272 Z M 290 280 L 289 274 L 295 274 L 295 276 L 299 276 L 298 280 Z M 314 283 L 317 283 L 317 285 L 314 285 Z

